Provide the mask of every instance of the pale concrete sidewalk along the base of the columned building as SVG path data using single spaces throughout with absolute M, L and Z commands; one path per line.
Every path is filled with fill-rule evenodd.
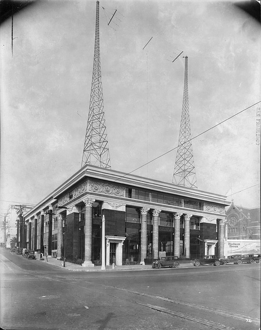
M 94 267 L 82 267 L 81 265 L 77 265 L 76 263 L 71 263 L 66 261 L 65 262 L 65 267 L 63 266 L 62 260 L 57 260 L 56 258 L 44 257 L 44 260 L 40 260 L 39 258 L 36 258 L 40 262 L 46 262 L 49 265 L 53 265 L 59 268 L 62 268 L 64 270 L 69 270 L 73 272 L 101 272 L 101 266 L 94 266 Z M 190 260 L 184 260 L 184 262 L 180 263 L 180 267 L 193 267 L 193 263 L 190 262 Z M 112 269 L 112 266 L 106 266 L 106 271 L 130 271 L 130 270 L 135 270 L 135 271 L 143 271 L 143 270 L 153 270 L 152 265 L 124 265 L 124 266 L 118 266 L 115 265 L 114 269 Z

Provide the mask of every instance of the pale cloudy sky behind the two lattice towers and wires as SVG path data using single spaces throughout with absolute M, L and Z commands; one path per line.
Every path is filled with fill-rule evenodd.
M 38 203 L 81 167 L 95 16 L 95 0 L 38 0 L 14 16 L 13 56 L 11 19 L 0 27 L 1 214 Z M 101 1 L 111 168 L 131 172 L 177 147 L 182 56 L 192 137 L 259 102 L 260 44 L 260 24 L 228 1 Z M 198 189 L 259 205 L 258 107 L 193 140 Z M 176 152 L 133 174 L 172 182 Z

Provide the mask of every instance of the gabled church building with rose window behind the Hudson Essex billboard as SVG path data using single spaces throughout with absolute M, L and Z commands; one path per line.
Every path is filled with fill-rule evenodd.
M 260 208 L 242 208 L 232 202 L 226 215 L 228 239 L 260 240 Z

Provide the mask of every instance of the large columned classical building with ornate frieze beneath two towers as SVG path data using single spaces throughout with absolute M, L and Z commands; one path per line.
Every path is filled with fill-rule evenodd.
M 25 214 L 27 247 L 44 255 L 144 263 L 224 255 L 225 196 L 86 165 Z

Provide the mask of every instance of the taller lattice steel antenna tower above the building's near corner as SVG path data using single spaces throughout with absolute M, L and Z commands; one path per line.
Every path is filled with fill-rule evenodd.
M 101 81 L 99 1 L 96 2 L 93 79 L 81 167 L 85 164 L 91 164 L 102 168 L 110 168 L 110 155 L 103 111 L 103 92 Z

